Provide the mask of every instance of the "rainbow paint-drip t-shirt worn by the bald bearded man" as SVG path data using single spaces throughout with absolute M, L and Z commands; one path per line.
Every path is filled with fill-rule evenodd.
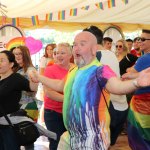
M 68 74 L 63 118 L 70 134 L 71 149 L 108 148 L 110 116 L 99 84 L 109 104 L 109 93 L 104 88 L 107 80 L 114 76 L 115 73 L 108 66 L 102 66 L 97 59 L 83 68 L 75 67 Z

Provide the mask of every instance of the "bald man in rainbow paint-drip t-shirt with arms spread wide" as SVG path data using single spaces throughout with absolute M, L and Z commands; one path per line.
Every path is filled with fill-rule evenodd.
M 96 37 L 90 32 L 81 32 L 73 45 L 77 66 L 70 70 L 66 80 L 48 79 L 36 72 L 31 74 L 34 82 L 40 81 L 57 91 L 64 90 L 63 119 L 68 130 L 64 135 L 69 136 L 64 143 L 72 150 L 108 149 L 110 118 L 102 91 L 109 104 L 108 92 L 126 94 L 139 86 L 150 85 L 150 69 L 141 72 L 134 80 L 121 81 L 108 66 L 100 64 L 96 51 Z M 61 149 L 67 148 L 63 146 Z

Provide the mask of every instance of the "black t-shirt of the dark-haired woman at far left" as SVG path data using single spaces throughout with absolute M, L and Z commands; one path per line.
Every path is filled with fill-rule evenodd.
M 29 81 L 18 73 L 0 81 L 0 105 L 6 114 L 19 110 L 22 91 L 31 91 Z M 0 116 L 3 116 L 0 112 Z

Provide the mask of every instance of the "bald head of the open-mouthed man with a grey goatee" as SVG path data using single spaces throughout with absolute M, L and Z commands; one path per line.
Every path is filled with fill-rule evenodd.
M 81 68 L 90 64 L 96 56 L 96 37 L 87 31 L 79 33 L 74 40 L 73 56 L 75 64 Z

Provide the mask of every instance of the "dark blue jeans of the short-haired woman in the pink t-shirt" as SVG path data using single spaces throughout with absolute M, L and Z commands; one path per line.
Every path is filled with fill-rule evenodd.
M 60 136 L 66 131 L 62 114 L 50 109 L 44 109 L 44 121 L 47 129 L 57 134 L 57 140 L 49 139 L 49 149 L 57 150 Z

